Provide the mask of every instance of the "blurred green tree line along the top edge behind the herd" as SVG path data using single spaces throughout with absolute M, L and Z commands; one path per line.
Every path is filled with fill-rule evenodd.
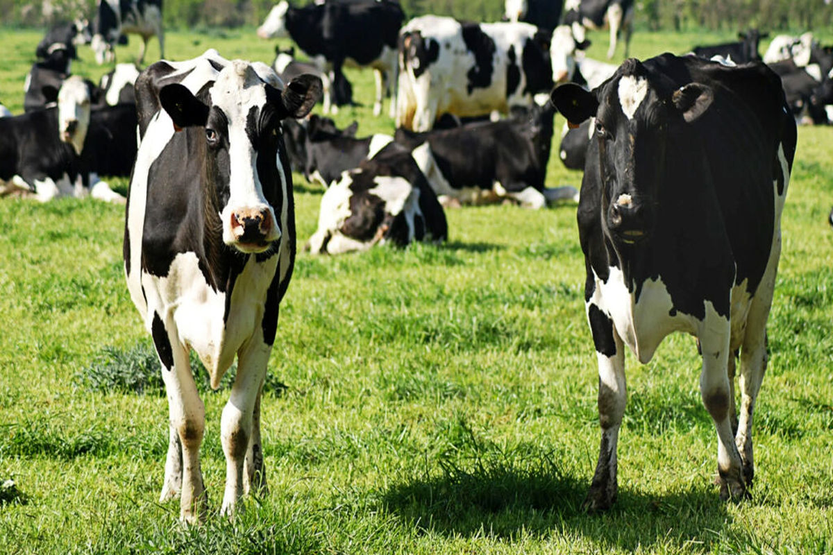
M 295 0 L 295 4 L 309 0 Z M 560 0 L 555 0 L 560 1 Z M 276 0 L 164 0 L 171 28 L 241 27 L 260 24 Z M 498 21 L 503 0 L 401 0 L 407 17 L 426 13 L 472 21 Z M 0 0 L 4 25 L 45 26 L 85 14 L 95 0 Z M 831 27 L 833 2 L 825 0 L 636 0 L 636 28 L 651 31 L 711 29 L 767 31 Z

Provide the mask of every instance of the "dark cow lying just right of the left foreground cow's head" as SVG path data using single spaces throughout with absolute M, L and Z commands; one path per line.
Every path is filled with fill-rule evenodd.
M 299 157 L 304 164 L 304 177 L 325 187 L 337 181 L 343 171 L 357 168 L 363 160 L 376 156 L 393 142 L 392 136 L 383 133 L 356 137 L 355 126 L 339 130 L 332 126 L 332 121 L 315 115 L 309 117 L 302 130 L 290 134 L 297 150 L 302 151 Z

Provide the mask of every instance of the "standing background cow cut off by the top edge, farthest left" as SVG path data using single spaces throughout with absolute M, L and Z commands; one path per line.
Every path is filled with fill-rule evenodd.
M 162 32 L 162 0 L 96 0 L 96 17 L 92 22 L 92 42 L 96 62 L 116 59 L 113 45 L 122 33 L 132 32 L 142 37 L 142 50 L 137 63 L 145 59 L 147 41 L 156 35 L 160 57 L 165 57 L 165 37 Z

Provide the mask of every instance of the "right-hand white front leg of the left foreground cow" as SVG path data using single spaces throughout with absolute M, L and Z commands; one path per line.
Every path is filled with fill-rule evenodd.
M 269 353 L 272 347 L 265 344 L 262 339 L 253 338 L 237 354 L 237 377 L 232 386 L 232 394 L 228 399 L 226 407 L 222 409 L 221 439 L 222 450 L 226 454 L 226 493 L 222 498 L 221 513 L 232 514 L 237 507 L 237 499 L 243 492 L 243 471 L 244 463 L 248 453 L 257 451 L 262 453 L 260 445 L 260 429 L 258 414 L 257 433 L 253 431 L 253 416 L 257 399 L 260 395 L 263 379 L 266 376 L 266 367 L 269 361 Z M 253 444 L 257 441 L 257 446 Z M 266 477 L 262 472 L 262 455 L 257 458 L 260 461 L 260 472 L 252 468 L 252 477 L 247 482 L 263 483 Z M 252 463 L 257 463 L 252 455 Z M 248 468 L 247 468 L 248 470 Z

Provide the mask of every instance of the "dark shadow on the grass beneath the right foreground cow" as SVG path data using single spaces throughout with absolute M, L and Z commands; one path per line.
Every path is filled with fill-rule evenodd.
M 531 472 L 501 465 L 473 471 L 441 467 L 436 477 L 393 483 L 382 493 L 384 509 L 419 533 L 448 538 L 486 534 L 506 541 L 521 534 L 546 538 L 556 533 L 631 552 L 654 545 L 686 550 L 696 544 L 707 550 L 731 523 L 726 503 L 709 483 L 659 496 L 620 486 L 613 508 L 587 513 L 582 503 L 589 475 L 555 467 Z

